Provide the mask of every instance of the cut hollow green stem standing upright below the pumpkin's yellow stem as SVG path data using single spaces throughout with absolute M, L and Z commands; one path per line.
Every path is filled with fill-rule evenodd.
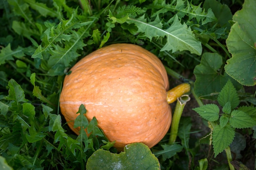
M 169 138 L 169 144 L 172 144 L 176 141 L 177 133 L 179 130 L 180 118 L 183 112 L 183 109 L 186 105 L 186 102 L 190 100 L 189 95 L 182 95 L 178 98 L 175 110 L 173 113 L 173 120 L 171 124 L 171 135 Z

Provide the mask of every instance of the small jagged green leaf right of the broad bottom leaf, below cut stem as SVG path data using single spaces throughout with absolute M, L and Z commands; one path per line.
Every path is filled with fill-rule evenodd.
M 155 152 L 153 152 L 153 154 L 156 157 L 159 157 L 162 155 L 163 161 L 173 157 L 174 155 L 177 154 L 177 152 L 181 152 L 183 149 L 183 146 L 181 146 L 179 144 L 172 144 L 172 145 L 164 144 L 161 146 L 164 150 L 155 151 Z

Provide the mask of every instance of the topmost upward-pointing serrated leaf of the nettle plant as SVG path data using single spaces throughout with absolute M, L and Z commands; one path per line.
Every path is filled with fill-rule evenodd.
M 236 88 L 230 80 L 227 81 L 225 86 L 218 95 L 218 102 L 223 107 L 227 102 L 230 102 L 231 109 L 233 110 L 240 103 Z

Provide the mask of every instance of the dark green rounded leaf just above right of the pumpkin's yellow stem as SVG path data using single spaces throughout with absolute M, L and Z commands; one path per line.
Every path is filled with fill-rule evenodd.
M 216 99 L 216 96 L 226 84 L 228 79 L 237 89 L 242 86 L 234 79 L 229 77 L 227 73 L 223 75 L 220 73 L 222 66 L 222 57 L 218 53 L 204 53 L 202 55 L 201 63 L 195 66 L 195 94 L 203 99 Z

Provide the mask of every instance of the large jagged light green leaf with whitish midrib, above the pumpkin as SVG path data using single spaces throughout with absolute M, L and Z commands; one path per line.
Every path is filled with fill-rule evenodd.
M 173 23 L 168 29 L 162 29 L 162 23 L 157 16 L 153 22 L 146 22 L 144 15 L 134 19 L 128 18 L 128 24 L 135 24 L 138 27 L 138 33 L 144 33 L 144 36 L 150 40 L 155 37 L 166 37 L 166 44 L 160 51 L 184 51 L 188 50 L 191 53 L 201 55 L 202 45 L 196 38 L 191 28 L 185 23 L 181 24 L 178 16 L 175 15 Z

